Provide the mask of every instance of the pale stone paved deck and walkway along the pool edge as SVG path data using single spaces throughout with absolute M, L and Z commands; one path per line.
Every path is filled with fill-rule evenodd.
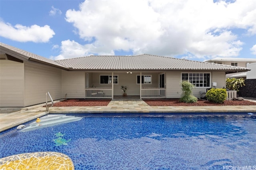
M 249 99 L 256 102 L 256 100 Z M 0 132 L 16 127 L 37 117 L 48 114 L 41 105 L 24 107 L 12 113 L 0 113 Z M 148 106 L 137 98 L 117 98 L 108 106 L 88 107 L 50 107 L 49 113 L 208 113 L 208 112 L 245 112 L 256 113 L 256 106 Z

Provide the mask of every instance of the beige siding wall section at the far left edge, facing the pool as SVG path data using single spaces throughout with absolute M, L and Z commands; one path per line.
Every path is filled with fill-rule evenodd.
M 0 107 L 24 107 L 23 63 L 0 61 Z

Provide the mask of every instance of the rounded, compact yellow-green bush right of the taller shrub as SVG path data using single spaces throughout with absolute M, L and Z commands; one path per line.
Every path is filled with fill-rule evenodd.
M 206 93 L 207 100 L 215 103 L 223 103 L 227 96 L 227 91 L 224 88 L 212 88 Z

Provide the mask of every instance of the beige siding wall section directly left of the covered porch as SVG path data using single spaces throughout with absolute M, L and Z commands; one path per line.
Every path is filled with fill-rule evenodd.
M 85 82 L 84 71 L 62 70 L 62 98 L 84 98 Z

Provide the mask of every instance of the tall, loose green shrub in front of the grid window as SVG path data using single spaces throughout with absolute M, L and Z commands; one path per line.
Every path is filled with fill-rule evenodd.
M 183 80 L 181 83 L 182 94 L 180 97 L 180 102 L 194 103 L 197 102 L 197 98 L 193 96 L 192 89 L 195 87 L 192 83 L 187 80 Z

